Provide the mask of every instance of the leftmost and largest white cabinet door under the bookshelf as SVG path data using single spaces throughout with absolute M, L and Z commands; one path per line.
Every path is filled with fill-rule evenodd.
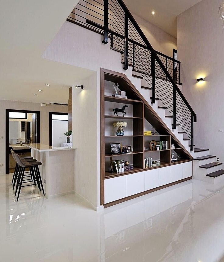
M 104 204 L 126 197 L 126 175 L 104 180 Z

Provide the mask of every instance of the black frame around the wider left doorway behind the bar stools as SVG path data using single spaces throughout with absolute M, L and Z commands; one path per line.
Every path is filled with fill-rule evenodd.
M 40 111 L 5 109 L 5 174 L 9 174 L 9 112 L 37 114 L 37 143 L 40 143 Z

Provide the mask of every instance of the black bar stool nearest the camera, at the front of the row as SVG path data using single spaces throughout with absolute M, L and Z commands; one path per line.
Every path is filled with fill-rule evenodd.
M 43 195 L 45 196 L 44 187 L 43 187 L 43 183 L 42 183 L 41 176 L 40 176 L 40 170 L 39 170 L 39 167 L 38 167 L 38 165 L 42 165 L 42 163 L 38 162 L 38 161 L 24 162 L 20 159 L 19 155 L 17 155 L 17 154 L 14 154 L 14 157 L 16 159 L 17 164 L 20 167 L 19 168 L 19 175 L 18 175 L 18 179 L 17 179 L 17 184 L 16 184 L 16 192 L 15 192 L 15 196 L 16 196 L 17 190 L 19 189 L 16 201 L 18 201 L 18 199 L 19 199 L 21 187 L 24 187 L 24 186 L 22 186 L 22 184 L 32 182 L 31 179 L 23 179 L 25 168 L 30 168 L 31 173 L 35 174 L 33 178 L 34 179 L 36 178 L 38 188 L 40 189 L 40 186 L 41 186 L 42 191 L 43 191 Z M 29 184 L 29 185 L 25 185 L 25 186 L 32 186 L 32 185 L 34 185 L 34 184 L 31 184 L 31 185 Z M 41 191 L 41 189 L 40 189 L 40 191 Z

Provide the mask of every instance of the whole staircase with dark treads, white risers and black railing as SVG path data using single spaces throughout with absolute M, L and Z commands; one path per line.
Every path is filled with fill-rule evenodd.
M 103 44 L 121 54 L 125 74 L 192 155 L 195 179 L 224 174 L 208 149 L 194 148 L 197 116 L 180 90 L 180 62 L 152 48 L 122 0 L 80 0 L 67 21 L 103 35 Z

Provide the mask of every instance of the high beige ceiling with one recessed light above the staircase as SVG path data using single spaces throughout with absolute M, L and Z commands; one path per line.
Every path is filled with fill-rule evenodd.
M 177 16 L 201 0 L 124 0 L 131 13 L 177 38 Z M 155 15 L 152 15 L 155 11 Z

